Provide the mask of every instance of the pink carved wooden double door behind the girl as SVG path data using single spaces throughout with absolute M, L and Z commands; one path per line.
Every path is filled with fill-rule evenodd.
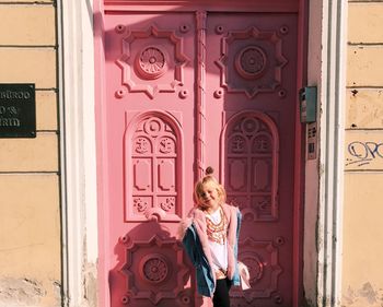
M 212 166 L 243 214 L 232 306 L 291 307 L 297 15 L 175 10 L 104 11 L 101 306 L 207 306 L 176 232 Z

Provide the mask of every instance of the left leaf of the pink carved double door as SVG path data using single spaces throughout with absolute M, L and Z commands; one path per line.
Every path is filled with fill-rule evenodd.
M 105 25 L 112 306 L 194 306 L 175 239 L 193 205 L 194 15 L 111 13 Z

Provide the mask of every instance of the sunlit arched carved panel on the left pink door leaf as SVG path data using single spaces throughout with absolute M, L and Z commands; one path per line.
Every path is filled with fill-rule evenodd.
M 125 139 L 125 220 L 175 222 L 182 217 L 182 129 L 161 110 L 136 116 Z

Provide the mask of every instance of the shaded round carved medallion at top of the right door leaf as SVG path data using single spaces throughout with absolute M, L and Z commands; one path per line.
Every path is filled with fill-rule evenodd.
M 236 71 L 245 79 L 257 79 L 266 70 L 267 58 L 259 47 L 243 48 L 235 58 Z

